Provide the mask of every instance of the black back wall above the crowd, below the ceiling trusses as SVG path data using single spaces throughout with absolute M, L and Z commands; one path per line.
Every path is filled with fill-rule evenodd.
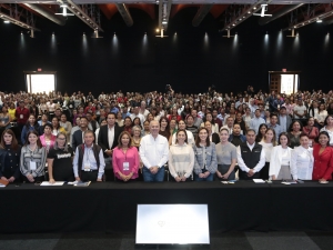
M 252 17 L 232 30 L 236 38 L 228 39 L 218 32 L 219 21 L 211 14 L 199 28 L 192 27 L 195 12 L 195 8 L 180 11 L 163 39 L 155 37 L 157 20 L 135 9 L 131 28 L 119 14 L 103 19 L 102 39 L 91 38 L 92 30 L 75 17 L 64 27 L 38 19 L 42 32 L 34 39 L 1 21 L 0 90 L 23 90 L 22 71 L 38 68 L 57 71 L 58 89 L 68 92 L 151 91 L 168 83 L 183 92 L 201 92 L 210 84 L 223 92 L 249 84 L 268 90 L 268 71 L 283 68 L 302 71 L 301 89 L 330 88 L 333 46 L 326 34 L 333 33 L 332 26 L 306 26 L 295 39 L 286 37 L 291 31 L 279 31 L 287 26 L 285 19 L 261 27 Z

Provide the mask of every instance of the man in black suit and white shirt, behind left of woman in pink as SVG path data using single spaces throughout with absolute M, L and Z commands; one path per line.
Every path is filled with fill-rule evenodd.
M 122 132 L 122 128 L 115 123 L 115 113 L 109 113 L 107 117 L 107 126 L 102 126 L 99 132 L 99 146 L 104 152 L 105 159 L 105 180 L 114 180 L 113 169 L 111 166 L 113 149 L 118 146 L 118 138 Z

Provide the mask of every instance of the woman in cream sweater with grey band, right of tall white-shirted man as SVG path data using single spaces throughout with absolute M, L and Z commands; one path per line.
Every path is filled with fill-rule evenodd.
M 191 144 L 188 144 L 185 130 L 178 130 L 175 144 L 170 147 L 169 170 L 174 181 L 188 181 L 192 177 L 194 167 L 194 152 Z

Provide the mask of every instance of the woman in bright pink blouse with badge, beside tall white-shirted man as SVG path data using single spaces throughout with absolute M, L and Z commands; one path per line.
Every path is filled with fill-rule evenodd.
M 117 180 L 129 182 L 139 177 L 139 152 L 137 147 L 132 146 L 132 138 L 128 131 L 119 136 L 118 147 L 112 152 L 112 166 Z

